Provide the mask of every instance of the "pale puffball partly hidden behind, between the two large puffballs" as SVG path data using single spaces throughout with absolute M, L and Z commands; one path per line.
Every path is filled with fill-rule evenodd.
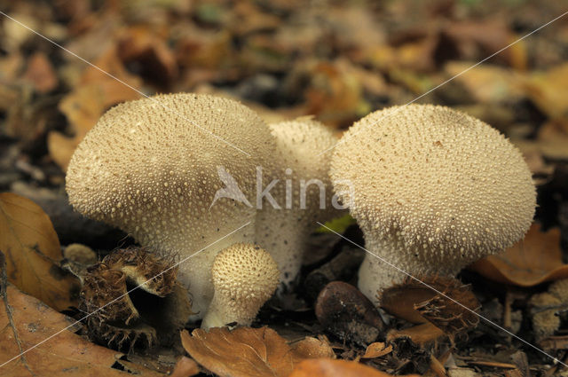
M 272 123 L 269 127 L 276 140 L 276 152 L 264 174 L 278 179 L 270 192 L 278 207 L 270 200 L 262 202 L 256 217 L 256 243 L 271 253 L 278 263 L 282 287 L 289 288 L 300 271 L 307 241 L 318 228 L 317 222 L 341 216 L 331 203 L 331 154 L 319 155 L 335 145 L 337 139 L 310 116 Z

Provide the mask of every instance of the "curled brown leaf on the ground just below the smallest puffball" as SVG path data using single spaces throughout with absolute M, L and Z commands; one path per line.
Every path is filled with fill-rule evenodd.
M 322 342 L 288 342 L 268 327 L 214 327 L 209 332 L 182 331 L 185 350 L 199 364 L 222 377 L 288 377 L 297 362 L 308 357 L 330 356 L 333 351 Z

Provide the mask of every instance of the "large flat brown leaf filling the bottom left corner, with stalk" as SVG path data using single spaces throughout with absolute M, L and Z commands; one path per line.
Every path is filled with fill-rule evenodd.
M 59 314 L 7 283 L 4 255 L 0 254 L 0 259 L 0 294 L 3 300 L 0 308 L 0 364 L 63 330 L 54 339 L 37 345 L 2 366 L 3 377 L 119 377 L 130 373 L 141 377 L 162 376 L 162 373 L 122 361 L 122 353 L 99 347 L 75 334 L 79 325 L 75 325 L 72 318 Z

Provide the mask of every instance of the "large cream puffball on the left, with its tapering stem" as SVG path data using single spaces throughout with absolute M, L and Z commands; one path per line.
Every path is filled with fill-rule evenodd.
M 231 193 L 220 176 L 253 198 L 256 166 L 273 149 L 265 123 L 234 100 L 190 93 L 139 99 L 110 109 L 84 137 L 67 170 L 67 192 L 83 215 L 143 246 L 180 260 L 194 255 L 179 265 L 177 279 L 192 294 L 197 319 L 213 296 L 217 252 L 254 238 L 255 208 L 241 197 L 216 196 Z

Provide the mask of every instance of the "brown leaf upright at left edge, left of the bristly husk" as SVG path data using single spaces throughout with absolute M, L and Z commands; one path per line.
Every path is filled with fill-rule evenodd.
M 0 251 L 16 287 L 56 310 L 76 305 L 78 279 L 59 268 L 63 256 L 57 233 L 32 200 L 0 193 Z

